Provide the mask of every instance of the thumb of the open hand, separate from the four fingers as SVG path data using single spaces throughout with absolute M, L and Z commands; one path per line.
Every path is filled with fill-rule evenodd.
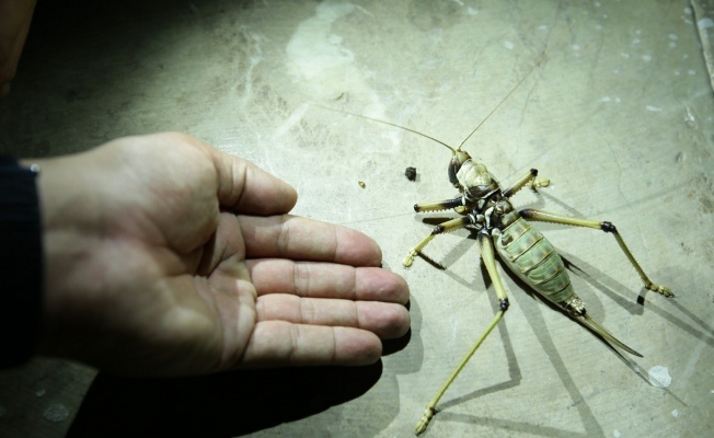
M 218 199 L 223 208 L 247 215 L 283 215 L 298 194 L 292 186 L 250 161 L 210 148 L 218 174 Z

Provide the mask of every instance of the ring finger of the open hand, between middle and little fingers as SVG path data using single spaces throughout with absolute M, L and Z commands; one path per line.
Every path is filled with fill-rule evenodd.
M 266 295 L 257 299 L 258 321 L 287 321 L 296 324 L 362 328 L 382 339 L 393 339 L 410 328 L 404 306 L 378 301 L 349 301 L 300 298 L 293 295 Z

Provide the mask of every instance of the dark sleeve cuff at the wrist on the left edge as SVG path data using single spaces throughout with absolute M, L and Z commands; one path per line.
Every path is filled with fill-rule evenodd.
M 0 368 L 30 359 L 39 333 L 44 255 L 36 175 L 0 157 Z

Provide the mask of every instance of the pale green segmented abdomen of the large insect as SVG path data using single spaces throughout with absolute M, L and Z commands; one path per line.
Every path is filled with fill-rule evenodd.
M 518 218 L 495 240 L 503 261 L 544 298 L 560 304 L 576 297 L 561 256 L 525 219 Z

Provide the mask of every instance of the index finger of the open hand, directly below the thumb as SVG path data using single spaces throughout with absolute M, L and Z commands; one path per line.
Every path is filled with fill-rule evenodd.
M 240 216 L 247 258 L 280 257 L 379 266 L 377 242 L 356 230 L 318 220 L 284 215 L 269 218 Z

